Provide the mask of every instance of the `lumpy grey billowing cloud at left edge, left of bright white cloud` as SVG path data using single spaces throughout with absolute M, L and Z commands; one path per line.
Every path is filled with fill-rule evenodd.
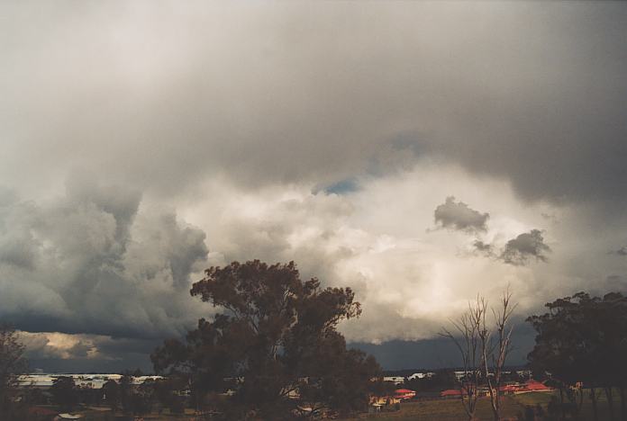
M 58 199 L 2 208 L 0 318 L 25 331 L 131 337 L 193 325 L 204 232 L 171 211 L 138 212 L 139 193 L 75 176 Z

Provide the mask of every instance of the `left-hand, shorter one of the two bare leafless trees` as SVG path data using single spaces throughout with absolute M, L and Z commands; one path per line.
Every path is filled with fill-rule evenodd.
M 476 419 L 478 385 L 483 370 L 481 328 L 485 327 L 486 300 L 479 298 L 468 302 L 468 311 L 458 320 L 450 320 L 453 332 L 442 328 L 441 336 L 448 337 L 457 346 L 463 363 L 463 377 L 459 382 L 461 404 L 469 420 Z

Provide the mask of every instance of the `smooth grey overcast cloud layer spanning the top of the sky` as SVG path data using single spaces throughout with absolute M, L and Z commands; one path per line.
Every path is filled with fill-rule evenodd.
M 625 200 L 624 4 L 166 4 L 0 6 L 3 180 L 86 166 L 168 197 L 438 157 Z

